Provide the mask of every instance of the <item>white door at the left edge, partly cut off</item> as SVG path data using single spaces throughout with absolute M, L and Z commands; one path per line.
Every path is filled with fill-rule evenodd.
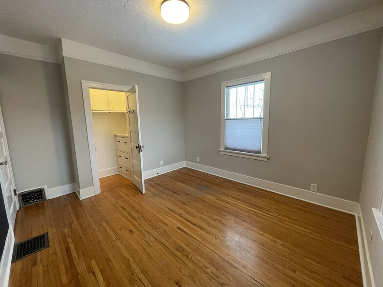
M 0 109 L 0 184 L 3 192 L 7 214 L 11 220 L 12 227 L 15 224 L 16 210 L 18 209 L 17 198 L 14 195 L 15 180 L 13 178 L 12 166 L 9 160 L 7 138 L 5 136 L 4 122 Z

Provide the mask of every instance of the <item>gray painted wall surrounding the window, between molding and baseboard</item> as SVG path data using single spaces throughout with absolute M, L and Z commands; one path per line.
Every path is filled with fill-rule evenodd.
M 185 83 L 186 160 L 358 201 L 382 30 Z M 220 83 L 272 72 L 268 162 L 221 155 Z

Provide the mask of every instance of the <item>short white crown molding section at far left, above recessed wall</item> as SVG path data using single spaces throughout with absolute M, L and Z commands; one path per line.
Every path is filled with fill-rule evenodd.
M 60 62 L 59 54 L 55 47 L 24 41 L 4 35 L 0 35 L 0 54 L 45 62 Z

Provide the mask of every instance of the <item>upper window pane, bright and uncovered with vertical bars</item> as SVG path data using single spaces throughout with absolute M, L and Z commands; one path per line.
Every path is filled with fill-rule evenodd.
M 228 87 L 226 119 L 262 118 L 264 81 Z

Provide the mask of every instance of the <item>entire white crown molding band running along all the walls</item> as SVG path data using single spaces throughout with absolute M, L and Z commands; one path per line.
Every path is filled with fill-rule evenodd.
M 231 68 L 276 57 L 383 27 L 383 4 L 292 34 L 258 47 L 181 72 L 79 42 L 61 39 L 59 49 L 0 35 L 0 54 L 60 63 L 62 57 L 99 63 L 170 80 L 186 82 Z

